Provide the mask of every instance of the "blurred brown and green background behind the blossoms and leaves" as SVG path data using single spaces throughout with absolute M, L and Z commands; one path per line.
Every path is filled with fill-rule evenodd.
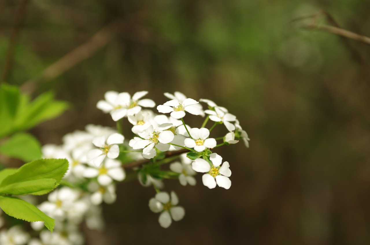
M 0 1 L 1 69 L 20 5 Z M 87 244 L 370 244 L 370 48 L 289 24 L 320 10 L 370 36 L 367 0 L 27 2 L 6 80 L 71 105 L 31 130 L 43 144 L 114 127 L 95 107 L 108 90 L 148 90 L 157 104 L 164 92 L 209 98 L 251 139 L 217 149 L 231 189 L 209 190 L 201 175 L 196 187 L 165 182 L 186 209 L 168 229 L 148 208 L 154 189 L 119 184 L 105 231 L 84 229 Z

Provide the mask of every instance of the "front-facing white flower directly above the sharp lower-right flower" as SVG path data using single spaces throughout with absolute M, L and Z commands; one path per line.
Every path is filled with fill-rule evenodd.
M 207 128 L 192 128 L 189 133 L 192 138 L 185 139 L 185 146 L 194 148 L 195 151 L 201 152 L 217 145 L 214 138 L 208 138 L 209 130 Z

